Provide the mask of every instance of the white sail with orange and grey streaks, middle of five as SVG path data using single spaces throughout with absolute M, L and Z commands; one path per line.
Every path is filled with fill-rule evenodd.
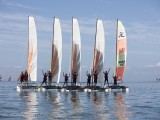
M 72 19 L 72 59 L 71 75 L 77 72 L 77 81 L 81 81 L 81 36 L 78 20 Z

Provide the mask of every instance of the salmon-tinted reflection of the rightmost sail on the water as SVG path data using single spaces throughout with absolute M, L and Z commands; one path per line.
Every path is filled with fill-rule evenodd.
M 115 116 L 118 120 L 128 120 L 127 105 L 121 92 L 114 93 L 115 98 Z

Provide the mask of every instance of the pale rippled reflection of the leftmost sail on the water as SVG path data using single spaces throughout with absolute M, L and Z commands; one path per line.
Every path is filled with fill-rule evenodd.
M 25 111 L 24 111 L 24 117 L 27 120 L 33 120 L 36 118 L 36 114 L 38 113 L 37 110 L 37 93 L 36 92 L 27 92 L 23 91 L 20 92 L 20 96 L 23 98 L 24 103 L 27 104 Z

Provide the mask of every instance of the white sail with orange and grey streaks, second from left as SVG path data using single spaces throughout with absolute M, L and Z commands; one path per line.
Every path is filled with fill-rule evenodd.
M 62 32 L 60 20 L 54 18 L 53 39 L 52 39 L 52 59 L 51 73 L 54 82 L 59 83 L 62 61 Z

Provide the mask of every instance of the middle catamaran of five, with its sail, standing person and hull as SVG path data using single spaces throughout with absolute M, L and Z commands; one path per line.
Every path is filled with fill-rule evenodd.
M 75 78 L 76 77 L 76 78 Z M 79 84 L 77 84 L 79 83 Z M 72 18 L 72 51 L 71 51 L 71 86 L 69 90 L 77 90 L 81 83 L 81 36 L 78 20 Z

